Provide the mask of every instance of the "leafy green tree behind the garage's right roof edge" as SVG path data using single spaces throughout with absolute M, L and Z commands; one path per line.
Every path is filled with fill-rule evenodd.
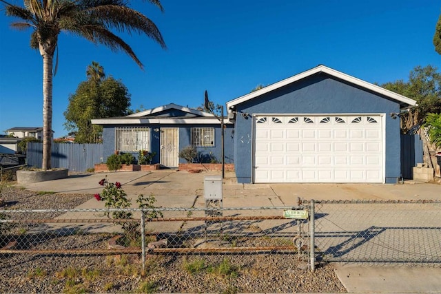
M 400 115 L 402 130 L 408 132 L 413 127 L 424 124 L 429 113 L 441 113 L 441 74 L 438 68 L 431 65 L 417 66 L 409 74 L 409 81 L 402 80 L 382 85 L 403 96 L 412 98 L 418 103 Z

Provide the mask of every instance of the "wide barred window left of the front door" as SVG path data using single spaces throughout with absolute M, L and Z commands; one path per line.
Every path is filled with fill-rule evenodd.
M 115 127 L 115 150 L 150 150 L 150 128 Z

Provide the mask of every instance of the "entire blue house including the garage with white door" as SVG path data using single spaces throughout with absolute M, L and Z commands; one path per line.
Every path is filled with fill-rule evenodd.
M 227 102 L 225 162 L 240 183 L 376 182 L 401 176 L 400 119 L 416 101 L 324 65 Z M 194 145 L 220 161 L 220 122 L 175 104 L 102 118 L 103 158 L 147 149 L 176 167 Z

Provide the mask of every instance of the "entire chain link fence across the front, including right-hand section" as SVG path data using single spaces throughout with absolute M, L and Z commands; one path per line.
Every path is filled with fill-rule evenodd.
M 163 217 L 146 218 L 152 210 Z M 306 211 L 307 216 L 290 218 L 285 211 Z M 119 212 L 130 212 L 132 218 L 108 217 Z M 130 254 L 143 270 L 155 256 L 174 260 L 216 255 L 237 266 L 277 256 L 265 266 L 297 264 L 311 271 L 320 262 L 441 264 L 441 202 L 435 200 L 311 201 L 298 207 L 228 209 L 0 210 L 0 232 L 2 262 L 19 254 Z

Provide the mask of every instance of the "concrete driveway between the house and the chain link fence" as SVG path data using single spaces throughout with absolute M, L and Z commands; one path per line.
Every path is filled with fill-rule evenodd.
M 194 196 L 203 198 L 204 177 L 220 176 L 219 172 L 191 174 L 187 171 L 162 169 L 158 171 L 127 171 L 100 174 L 77 174 L 66 179 L 22 185 L 34 191 L 59 193 L 100 193 L 98 182 L 107 177 L 121 182 L 127 195 L 154 193 L 168 204 L 192 207 Z M 184 196 L 193 196 L 191 199 Z M 238 184 L 234 173 L 223 180 L 225 207 L 291 206 L 297 197 L 305 200 L 440 200 L 441 185 L 436 183 L 404 184 Z M 164 204 L 165 204 L 164 203 Z

